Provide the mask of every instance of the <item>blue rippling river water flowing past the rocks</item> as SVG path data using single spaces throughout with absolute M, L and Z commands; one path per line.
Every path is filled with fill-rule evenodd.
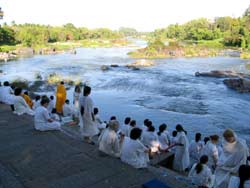
M 138 44 L 137 44 L 138 45 Z M 140 44 L 145 45 L 145 44 Z M 126 116 L 142 124 L 150 118 L 157 127 L 166 123 L 172 131 L 177 123 L 203 136 L 234 129 L 250 145 L 250 94 L 228 89 L 223 79 L 195 77 L 196 71 L 236 70 L 245 72 L 247 60 L 232 57 L 155 59 L 156 66 L 129 70 L 119 67 L 101 71 L 101 65 L 132 63 L 126 48 L 79 48 L 77 54 L 37 55 L 0 63 L 0 81 L 34 80 L 58 73 L 80 79 L 92 87 L 92 98 L 104 120 L 112 115 L 120 122 Z M 46 91 L 45 91 L 46 92 Z M 73 88 L 68 91 L 72 101 Z

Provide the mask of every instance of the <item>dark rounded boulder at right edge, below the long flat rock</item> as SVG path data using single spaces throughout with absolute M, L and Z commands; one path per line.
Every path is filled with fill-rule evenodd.
M 223 83 L 240 93 L 249 93 L 250 92 L 250 80 L 245 79 L 226 79 Z

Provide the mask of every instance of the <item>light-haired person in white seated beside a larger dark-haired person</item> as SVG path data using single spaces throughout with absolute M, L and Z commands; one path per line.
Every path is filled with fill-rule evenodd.
M 118 138 L 119 122 L 112 120 L 98 138 L 99 150 L 113 157 L 120 157 L 124 136 Z

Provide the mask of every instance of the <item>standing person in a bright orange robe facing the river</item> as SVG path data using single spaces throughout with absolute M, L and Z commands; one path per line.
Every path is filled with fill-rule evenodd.
M 61 82 L 61 84 L 57 86 L 57 91 L 56 91 L 56 111 L 59 114 L 62 114 L 63 112 L 63 105 L 65 103 L 66 96 L 67 93 L 64 87 L 64 82 Z

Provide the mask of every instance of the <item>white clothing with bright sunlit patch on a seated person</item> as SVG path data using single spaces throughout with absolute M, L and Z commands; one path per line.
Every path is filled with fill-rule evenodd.
M 160 147 L 160 142 L 157 135 L 154 132 L 143 132 L 142 133 L 142 143 L 151 149 L 152 152 L 157 152 Z

